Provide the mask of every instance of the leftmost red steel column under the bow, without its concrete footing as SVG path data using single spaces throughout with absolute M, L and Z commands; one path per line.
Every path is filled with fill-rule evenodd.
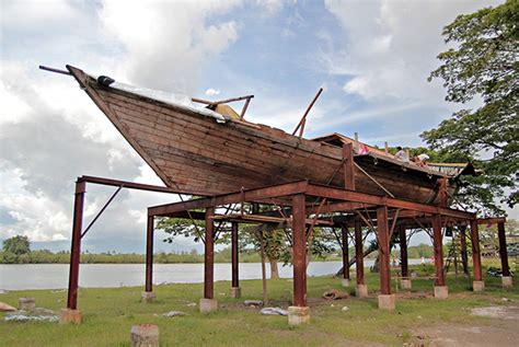
M 81 256 L 81 230 L 83 228 L 83 205 L 86 183 L 76 182 L 76 197 L 73 203 L 72 245 L 70 250 L 69 291 L 67 308 L 78 309 L 79 263 Z

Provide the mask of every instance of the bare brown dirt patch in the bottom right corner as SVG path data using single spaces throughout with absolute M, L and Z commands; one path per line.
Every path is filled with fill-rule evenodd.
M 489 320 L 471 325 L 449 323 L 418 328 L 413 332 L 408 346 L 517 346 L 519 306 L 478 308 L 471 313 Z

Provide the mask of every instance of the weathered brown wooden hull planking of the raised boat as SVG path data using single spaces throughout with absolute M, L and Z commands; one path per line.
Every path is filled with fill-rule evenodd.
M 206 188 L 217 184 L 220 187 L 226 186 L 235 189 L 241 182 L 247 181 L 246 184 L 250 185 L 255 180 L 261 181 L 258 184 L 265 184 L 304 177 L 312 182 L 327 183 L 341 163 L 339 160 L 330 157 L 339 155 L 339 149 L 307 140 L 304 141 L 311 144 L 302 143 L 301 140 L 293 139 L 293 137 L 291 138 L 288 134 L 278 129 L 262 127 L 258 130 L 232 122 L 220 125 L 210 117 L 196 115 L 195 113 L 186 115 L 176 111 L 175 107 L 166 107 L 161 103 L 148 104 L 138 99 L 130 99 L 125 93 L 100 90 L 100 94 L 103 94 L 111 107 L 117 111 L 127 131 L 130 131 L 137 138 L 143 137 L 139 141 L 142 141 L 142 146 L 148 151 L 153 150 L 154 155 L 159 155 L 160 152 L 170 154 L 171 158 L 160 155 L 164 157 L 161 167 L 168 167 L 169 176 L 185 184 L 189 183 Z M 262 131 L 267 132 L 268 136 L 262 134 L 262 136 L 258 136 L 257 132 Z M 274 136 L 276 140 L 272 140 Z M 211 181 L 204 177 L 207 174 L 193 175 L 188 173 L 183 175 L 182 172 L 185 172 L 186 167 L 181 167 L 182 165 L 170 164 L 170 166 L 164 166 L 169 161 L 168 159 L 175 161 L 175 157 L 183 157 L 188 160 L 189 162 L 185 162 L 185 160 L 180 160 L 180 162 L 191 164 L 195 170 L 209 170 L 209 172 L 218 173 L 219 176 L 227 177 Z M 405 175 L 397 177 L 400 182 L 396 182 L 394 175 L 388 177 L 388 171 L 380 173 L 378 167 L 374 171 L 372 169 L 368 170 L 388 189 L 397 196 L 402 196 L 396 190 L 402 190 L 401 181 Z M 233 174 L 234 171 L 235 174 Z M 344 182 L 343 177 L 344 175 L 337 172 L 333 184 L 341 186 Z M 203 180 L 204 182 L 197 184 L 196 180 Z M 356 181 L 359 182 L 358 190 L 372 194 L 380 193 L 380 188 L 376 187 L 362 173 L 356 172 Z M 217 190 L 214 194 L 221 192 Z M 430 188 L 413 188 L 410 190 L 408 187 L 404 187 L 404 197 L 408 197 L 408 195 L 414 195 L 414 198 L 420 196 L 419 200 L 423 200 L 425 195 L 430 194 Z

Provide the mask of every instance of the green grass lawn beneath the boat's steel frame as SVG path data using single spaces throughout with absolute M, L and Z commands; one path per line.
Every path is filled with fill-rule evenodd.
M 215 297 L 219 311 L 208 315 L 198 313 L 203 286 L 157 286 L 158 300 L 140 302 L 141 288 L 81 289 L 79 306 L 83 311 L 83 324 L 59 325 L 57 323 L 14 323 L 3 321 L 0 314 L 1 346 L 129 346 L 131 325 L 151 323 L 159 325 L 162 346 L 334 346 L 379 343 L 402 346 L 412 336 L 412 329 L 436 323 L 484 324 L 484 317 L 472 316 L 469 308 L 489 304 L 507 304 L 503 297 L 519 301 L 519 288 L 500 289 L 499 278 L 486 278 L 486 290 L 470 291 L 470 279 L 448 278 L 450 298 L 447 300 L 399 299 L 394 312 L 377 309 L 376 291 L 378 274 L 366 274 L 370 290 L 369 299 L 324 301 L 322 293 L 328 289 L 343 290 L 339 279 L 310 277 L 308 297 L 311 323 L 307 326 L 289 327 L 287 317 L 264 316 L 257 309 L 242 305 L 245 299 L 260 299 L 260 280 L 241 281 L 242 299 L 228 294 L 230 282 L 215 284 Z M 344 290 L 353 290 L 354 287 Z M 272 305 L 286 308 L 291 300 L 292 282 L 287 279 L 268 281 Z M 414 280 L 413 291 L 432 291 L 430 280 Z M 34 297 L 38 306 L 55 310 L 66 304 L 66 292 L 50 290 L 12 291 L 1 294 L 2 302 L 16 305 L 18 298 Z M 332 306 L 333 304 L 333 306 Z M 347 305 L 348 311 L 342 308 Z M 185 312 L 183 317 L 163 317 L 171 310 Z

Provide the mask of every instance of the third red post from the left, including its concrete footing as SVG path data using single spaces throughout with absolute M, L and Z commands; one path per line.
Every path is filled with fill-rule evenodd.
M 217 310 L 218 303 L 215 300 L 214 291 L 214 269 L 215 269 L 215 233 L 214 221 L 215 208 L 206 209 L 206 238 L 204 256 L 204 298 L 200 299 L 200 313 L 209 313 Z

